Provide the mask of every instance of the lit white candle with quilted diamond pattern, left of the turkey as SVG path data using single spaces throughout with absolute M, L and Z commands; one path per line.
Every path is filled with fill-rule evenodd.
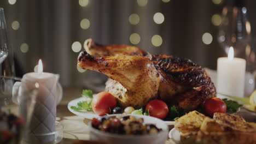
M 28 128 L 28 135 L 25 140 L 28 143 L 49 143 L 55 140 L 56 118 L 56 83 L 59 75 L 44 73 L 42 61 L 39 60 L 38 72 L 27 73 L 21 80 L 21 102 L 20 112 L 27 109 L 26 101 L 28 95 L 37 89 L 36 104 L 31 116 L 31 123 Z M 26 115 L 26 114 L 25 114 Z M 44 136 L 39 136 L 44 135 Z

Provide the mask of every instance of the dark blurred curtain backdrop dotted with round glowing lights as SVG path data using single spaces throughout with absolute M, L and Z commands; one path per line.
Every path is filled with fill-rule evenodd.
M 238 9 L 232 8 L 234 4 Z M 60 74 L 63 86 L 87 87 L 106 81 L 102 74 L 77 68 L 77 57 L 88 38 L 99 44 L 135 45 L 153 54 L 185 57 L 216 69 L 217 58 L 227 56 L 230 35 L 232 43 L 240 46 L 234 47 L 237 57 L 251 61 L 247 69 L 253 73 L 255 6 L 252 0 L 0 1 L 16 76 L 34 71 L 42 58 L 44 71 Z M 240 23 L 232 20 L 234 13 Z M 234 42 L 228 28 L 236 34 L 240 29 L 243 35 L 237 34 Z

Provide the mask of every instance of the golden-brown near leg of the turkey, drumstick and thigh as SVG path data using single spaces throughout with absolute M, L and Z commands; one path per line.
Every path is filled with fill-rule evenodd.
M 143 107 L 158 97 L 159 75 L 154 64 L 142 56 L 94 57 L 81 52 L 78 57 L 80 68 L 95 70 L 117 81 L 108 85 L 122 107 Z M 116 91 L 115 91 L 116 90 Z

